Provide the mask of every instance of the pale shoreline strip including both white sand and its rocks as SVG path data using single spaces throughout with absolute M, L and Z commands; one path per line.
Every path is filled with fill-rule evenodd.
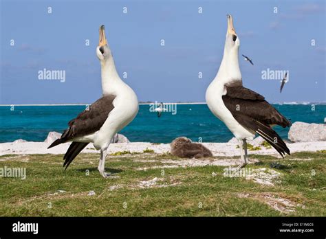
M 25 141 L 17 139 L 13 142 L 0 144 L 0 155 L 10 154 L 64 154 L 69 147 L 69 143 L 61 144 L 54 148 L 47 147 L 60 137 L 60 133 L 50 132 L 43 142 Z M 294 122 L 289 131 L 289 139 L 287 146 L 293 152 L 316 152 L 318 150 L 326 150 L 326 125 L 325 124 L 307 124 L 304 122 Z M 237 148 L 237 139 L 232 138 L 227 143 L 202 143 L 206 148 L 211 150 L 213 156 L 235 156 L 239 155 Z M 249 153 L 259 155 L 275 155 L 279 154 L 270 146 L 264 144 L 261 137 L 256 137 L 250 144 Z M 146 150 L 153 150 L 155 153 L 170 152 L 170 144 L 152 144 L 148 142 L 130 142 L 124 135 L 117 134 L 112 139 L 109 146 L 109 153 L 130 151 L 131 153 L 142 153 Z M 92 144 L 89 144 L 83 152 L 98 153 Z

